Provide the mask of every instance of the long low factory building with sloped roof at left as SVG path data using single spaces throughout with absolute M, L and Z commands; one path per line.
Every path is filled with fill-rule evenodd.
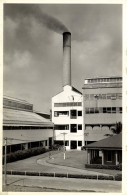
M 53 123 L 33 111 L 27 101 L 4 96 L 3 140 L 7 153 L 53 144 Z M 4 145 L 4 142 L 3 142 Z

